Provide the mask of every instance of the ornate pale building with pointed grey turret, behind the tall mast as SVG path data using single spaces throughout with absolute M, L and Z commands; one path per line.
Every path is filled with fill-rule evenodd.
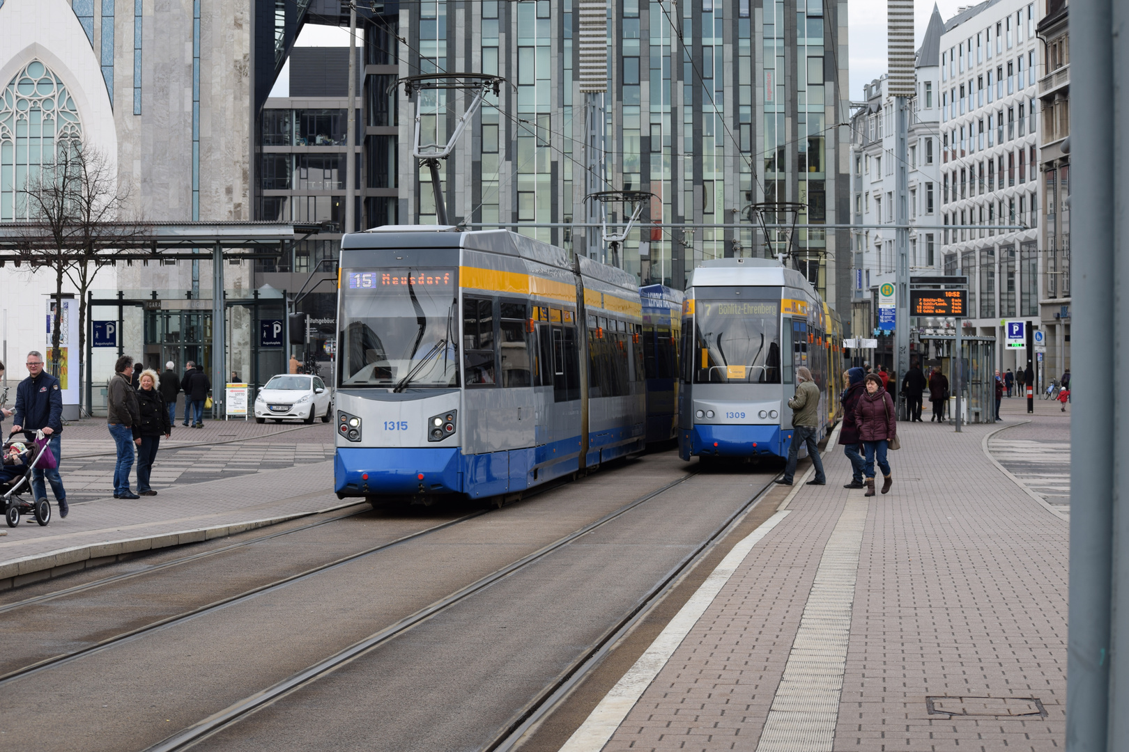
M 909 223 L 910 274 L 926 275 L 942 269 L 940 253 L 940 36 L 944 21 L 934 7 L 914 64 L 917 95 L 911 101 L 909 126 Z M 895 101 L 887 94 L 887 78 L 875 79 L 863 90 L 851 117 L 851 202 L 856 229 L 854 251 L 852 331 L 873 328 L 873 290 L 893 281 L 894 247 L 894 126 Z M 855 105 L 852 105 L 855 106 Z M 889 224 L 889 229 L 881 227 Z

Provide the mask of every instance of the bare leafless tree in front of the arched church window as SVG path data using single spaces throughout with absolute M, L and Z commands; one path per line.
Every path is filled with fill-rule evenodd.
M 86 347 L 87 292 L 99 262 L 123 247 L 135 247 L 151 233 L 140 219 L 126 220 L 130 192 L 98 149 L 79 141 L 58 144 L 54 161 L 30 176 L 20 196 L 28 222 L 17 227 L 20 258 L 50 268 L 55 276 L 55 321 L 51 333 L 51 370 L 58 377 L 62 327 L 63 278 L 79 291 L 79 380 Z M 44 154 L 47 157 L 47 154 Z

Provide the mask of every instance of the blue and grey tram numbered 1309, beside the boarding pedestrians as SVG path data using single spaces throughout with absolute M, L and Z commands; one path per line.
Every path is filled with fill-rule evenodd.
M 803 274 L 760 258 L 707 260 L 693 271 L 682 315 L 679 453 L 787 457 L 795 370 L 820 388 L 820 439 L 835 418 L 832 313 Z

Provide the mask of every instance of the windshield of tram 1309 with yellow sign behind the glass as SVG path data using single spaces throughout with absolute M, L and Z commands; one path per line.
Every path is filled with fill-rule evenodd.
M 694 300 L 694 383 L 780 383 L 779 300 Z

